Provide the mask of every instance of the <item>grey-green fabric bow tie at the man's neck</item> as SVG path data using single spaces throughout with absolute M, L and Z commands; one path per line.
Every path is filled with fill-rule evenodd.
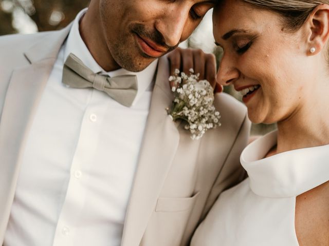
M 65 61 L 62 83 L 72 88 L 95 88 L 104 91 L 126 107 L 132 106 L 138 85 L 135 75 L 109 77 L 95 74 L 72 53 Z

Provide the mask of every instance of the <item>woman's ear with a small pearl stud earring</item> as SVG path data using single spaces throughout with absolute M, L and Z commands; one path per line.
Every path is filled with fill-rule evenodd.
M 329 38 L 329 5 L 321 4 L 307 18 L 307 53 L 317 54 L 326 47 Z

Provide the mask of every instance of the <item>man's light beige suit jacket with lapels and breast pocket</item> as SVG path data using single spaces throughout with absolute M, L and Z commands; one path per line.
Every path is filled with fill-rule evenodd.
M 0 37 L 0 243 L 31 122 L 69 29 Z M 187 245 L 218 194 L 244 177 L 239 156 L 250 128 L 246 108 L 227 94 L 216 95 L 222 126 L 193 141 L 184 123 L 167 115 L 173 100 L 168 78 L 162 57 L 122 246 Z

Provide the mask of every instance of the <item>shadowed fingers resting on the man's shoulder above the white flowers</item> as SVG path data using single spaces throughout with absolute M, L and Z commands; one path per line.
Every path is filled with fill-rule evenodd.
M 170 74 L 174 74 L 175 69 L 189 74 L 190 68 L 194 73 L 199 73 L 199 79 L 207 79 L 214 88 L 214 93 L 222 92 L 223 87 L 216 81 L 216 58 L 214 54 L 206 54 L 200 49 L 176 48 L 168 55 L 170 63 Z M 170 84 L 173 87 L 173 84 Z

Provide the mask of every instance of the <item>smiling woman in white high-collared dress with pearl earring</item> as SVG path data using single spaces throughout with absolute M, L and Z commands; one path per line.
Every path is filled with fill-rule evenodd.
M 224 0 L 213 22 L 217 80 L 278 130 L 245 148 L 249 177 L 218 197 L 191 245 L 329 245 L 329 1 Z

